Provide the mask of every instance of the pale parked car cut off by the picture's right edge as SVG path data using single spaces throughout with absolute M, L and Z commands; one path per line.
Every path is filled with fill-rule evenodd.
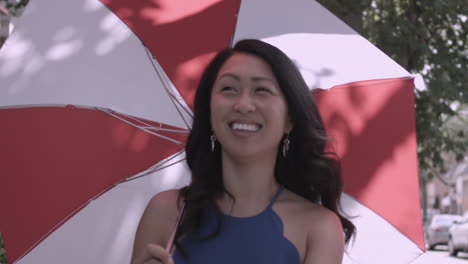
M 448 248 L 450 256 L 456 256 L 460 251 L 468 252 L 468 212 L 450 227 Z

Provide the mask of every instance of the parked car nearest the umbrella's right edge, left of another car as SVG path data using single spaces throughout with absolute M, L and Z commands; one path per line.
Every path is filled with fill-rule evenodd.
M 456 221 L 461 221 L 461 216 L 451 214 L 434 215 L 426 230 L 427 247 L 434 249 L 437 245 L 447 245 L 449 228 Z

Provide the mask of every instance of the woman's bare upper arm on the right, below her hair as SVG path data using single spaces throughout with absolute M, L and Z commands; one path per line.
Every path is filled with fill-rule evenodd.
M 307 235 L 304 264 L 341 264 L 344 254 L 344 233 L 336 214 L 322 208 L 314 216 Z

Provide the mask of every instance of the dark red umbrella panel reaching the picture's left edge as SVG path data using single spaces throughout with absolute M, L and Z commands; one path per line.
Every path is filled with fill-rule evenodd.
M 2 209 L 8 215 L 1 231 L 13 260 L 101 194 L 151 170 L 155 161 L 161 167 L 183 160 L 187 135 L 141 120 L 159 128 L 160 136 L 154 136 L 103 111 L 75 106 L 6 108 L 0 120 L 0 156 L 7 161 L 0 166 Z M 171 182 L 186 183 L 178 178 Z

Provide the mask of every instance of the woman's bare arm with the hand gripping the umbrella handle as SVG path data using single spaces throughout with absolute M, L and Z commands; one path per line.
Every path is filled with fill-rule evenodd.
M 173 263 L 163 246 L 177 220 L 177 200 L 178 191 L 169 190 L 155 195 L 149 201 L 136 231 L 132 264 L 143 264 L 152 258 L 160 259 L 162 263 Z

